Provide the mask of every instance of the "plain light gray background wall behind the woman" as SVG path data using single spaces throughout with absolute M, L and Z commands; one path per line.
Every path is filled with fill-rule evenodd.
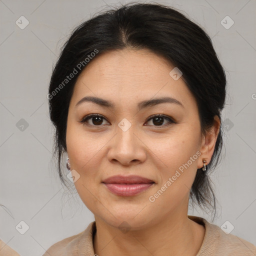
M 119 1 L 126 3 L 129 1 Z M 205 28 L 224 66 L 227 99 L 222 161 L 214 171 L 218 216 L 232 234 L 256 244 L 256 1 L 168 0 Z M 0 0 L 0 238 L 21 255 L 41 255 L 94 220 L 74 191 L 63 188 L 52 157 L 47 86 L 71 30 L 108 0 Z M 29 24 L 20 29 L 21 16 Z M 230 16 L 234 24 L 220 23 Z M 228 21 L 229 22 L 229 21 Z M 28 126 L 24 124 L 24 119 Z M 233 125 L 233 126 L 232 126 Z M 73 184 L 71 184 L 72 186 Z M 205 217 L 200 210 L 189 214 Z M 25 221 L 20 234 L 15 226 Z

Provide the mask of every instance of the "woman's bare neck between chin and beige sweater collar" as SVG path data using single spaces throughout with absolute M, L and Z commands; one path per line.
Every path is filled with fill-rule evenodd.
M 196 255 L 204 237 L 204 227 L 187 217 L 175 214 L 139 230 L 121 232 L 119 228 L 95 217 L 94 252 L 100 256 Z

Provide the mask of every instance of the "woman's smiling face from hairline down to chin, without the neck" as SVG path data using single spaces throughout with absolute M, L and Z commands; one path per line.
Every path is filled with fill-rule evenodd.
M 196 170 L 202 167 L 202 157 L 210 160 L 215 141 L 208 152 L 195 99 L 182 76 L 169 74 L 173 68 L 149 50 L 125 49 L 98 55 L 76 81 L 66 130 L 72 174 L 79 177 L 74 184 L 95 218 L 110 225 L 126 221 L 139 229 L 187 214 Z M 85 96 L 111 106 L 90 100 L 77 104 Z M 162 97 L 176 102 L 141 103 Z M 89 114 L 101 118 L 79 122 Z M 147 189 L 134 194 L 121 194 L 109 190 L 116 184 L 102 183 L 113 175 L 138 175 L 153 183 L 142 184 Z M 117 185 L 117 190 L 124 186 Z

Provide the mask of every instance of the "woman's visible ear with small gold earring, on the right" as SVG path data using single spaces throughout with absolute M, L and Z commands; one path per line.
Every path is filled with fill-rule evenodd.
M 197 168 L 201 168 L 203 166 L 202 159 L 207 161 L 206 164 L 210 162 L 211 156 L 214 151 L 215 143 L 217 140 L 217 136 L 220 128 L 220 120 L 217 115 L 214 116 L 214 123 L 211 128 L 207 131 L 205 135 L 202 135 L 201 139 L 201 147 L 200 147 L 200 158 L 197 162 Z

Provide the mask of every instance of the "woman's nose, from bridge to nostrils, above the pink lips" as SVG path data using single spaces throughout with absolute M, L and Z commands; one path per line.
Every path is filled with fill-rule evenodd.
M 130 126 L 127 130 L 118 126 L 115 136 L 110 140 L 108 160 L 126 166 L 141 163 L 146 159 L 145 142 L 143 143 L 135 126 Z

